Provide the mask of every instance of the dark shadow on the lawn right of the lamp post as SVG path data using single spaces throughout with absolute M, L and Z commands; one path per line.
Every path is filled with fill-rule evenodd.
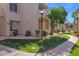
M 53 48 L 57 47 L 61 43 L 67 41 L 67 38 L 59 38 L 59 37 L 51 37 L 50 39 L 45 39 L 43 41 L 43 47 L 44 49 L 40 48 L 39 51 L 36 53 L 44 53 L 46 51 L 52 50 Z M 36 56 L 35 55 L 35 56 Z

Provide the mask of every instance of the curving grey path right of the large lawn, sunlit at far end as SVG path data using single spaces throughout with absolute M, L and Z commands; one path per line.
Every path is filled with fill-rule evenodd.
M 45 52 L 44 54 L 46 56 L 67 56 L 67 55 L 69 55 L 74 43 L 76 43 L 77 40 L 78 40 L 77 37 L 70 36 L 70 39 L 68 41 L 62 43 L 61 45 L 57 46 L 53 50 L 49 50 L 49 51 Z M 41 56 L 42 53 L 37 54 L 37 55 Z

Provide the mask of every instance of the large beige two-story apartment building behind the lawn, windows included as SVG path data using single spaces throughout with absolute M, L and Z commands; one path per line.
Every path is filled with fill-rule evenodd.
M 49 29 L 47 18 L 48 8 L 41 3 L 0 3 L 0 36 L 12 36 L 17 30 L 18 35 L 30 31 L 35 36 L 40 29 L 40 10 L 44 11 L 43 29 Z

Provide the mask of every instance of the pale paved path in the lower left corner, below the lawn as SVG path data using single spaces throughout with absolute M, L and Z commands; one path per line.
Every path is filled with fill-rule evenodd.
M 0 56 L 34 56 L 33 53 L 25 53 L 3 45 L 0 45 Z

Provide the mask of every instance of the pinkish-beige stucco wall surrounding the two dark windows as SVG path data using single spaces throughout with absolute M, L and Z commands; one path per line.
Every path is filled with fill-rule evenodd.
M 38 20 L 40 18 L 40 10 L 38 3 L 21 3 L 18 4 L 18 12 L 10 12 L 8 3 L 0 3 L 0 8 L 4 11 L 6 35 L 10 35 L 10 20 L 20 21 L 19 34 L 25 35 L 27 30 L 35 36 L 35 30 L 38 30 Z M 44 10 L 44 17 L 47 10 Z

